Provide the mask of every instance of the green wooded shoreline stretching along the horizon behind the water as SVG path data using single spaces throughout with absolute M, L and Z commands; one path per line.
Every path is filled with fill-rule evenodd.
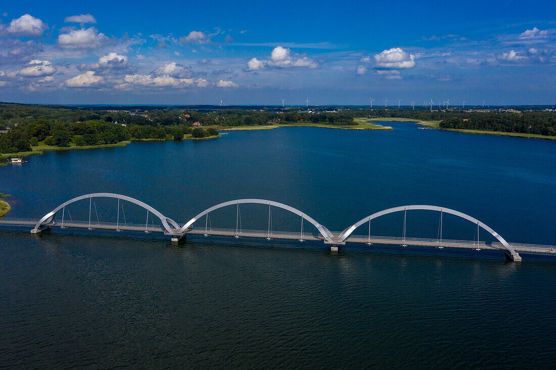
M 354 125 L 355 117 L 411 118 L 441 121 L 440 128 L 475 129 L 556 136 L 556 112 L 463 111 L 426 108 L 321 107 L 314 112 L 299 108 L 183 109 L 160 107 L 68 107 L 0 103 L 0 154 L 31 151 L 37 146 L 96 146 L 126 140 L 182 140 L 218 135 L 216 127 L 313 123 Z M 134 109 L 135 108 L 135 109 Z M 329 112 L 327 109 L 334 109 Z

